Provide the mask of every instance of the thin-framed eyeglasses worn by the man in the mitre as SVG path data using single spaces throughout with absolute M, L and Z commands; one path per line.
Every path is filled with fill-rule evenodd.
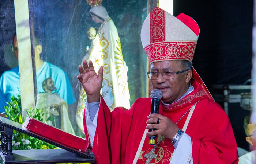
M 174 78 L 174 74 L 179 74 L 179 73 L 183 73 L 188 71 L 187 70 L 183 70 L 183 71 L 177 71 L 177 72 L 172 72 L 172 71 L 162 71 L 162 72 L 157 72 L 157 71 L 148 71 L 147 72 L 147 77 L 151 80 L 155 80 L 158 77 L 158 74 L 160 73 L 162 75 L 162 77 L 166 80 L 169 79 L 173 79 Z

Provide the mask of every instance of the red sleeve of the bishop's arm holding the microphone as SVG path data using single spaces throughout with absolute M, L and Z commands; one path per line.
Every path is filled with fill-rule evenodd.
M 211 101 L 198 105 L 197 109 L 200 109 L 193 113 L 197 123 L 193 126 L 199 129 L 192 128 L 194 130 L 186 132 L 193 136 L 193 163 L 237 164 L 237 144 L 227 114 L 217 103 Z

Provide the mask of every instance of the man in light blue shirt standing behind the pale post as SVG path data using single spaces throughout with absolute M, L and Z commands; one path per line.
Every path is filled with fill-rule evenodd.
M 18 59 L 18 43 L 16 33 L 13 37 L 12 51 L 14 51 L 15 58 Z M 35 38 L 35 70 L 37 78 L 37 93 L 44 92 L 42 82 L 51 77 L 56 86 L 56 93 L 64 99 L 67 104 L 76 102 L 74 93 L 72 91 L 71 83 L 67 74 L 59 67 L 41 60 L 40 54 L 42 46 L 39 44 L 38 39 Z M 4 106 L 8 104 L 12 96 L 20 95 L 20 81 L 19 81 L 19 67 L 14 67 L 11 70 L 5 71 L 0 78 L 0 113 L 4 116 Z

